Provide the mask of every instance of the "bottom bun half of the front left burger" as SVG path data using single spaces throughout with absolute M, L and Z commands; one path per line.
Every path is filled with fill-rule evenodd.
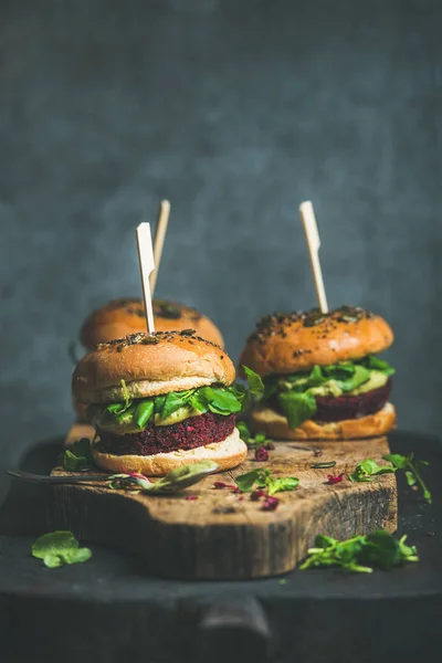
M 219 472 L 231 470 L 242 463 L 248 455 L 248 448 L 241 440 L 238 429 L 233 430 L 225 440 L 197 446 L 188 451 L 178 450 L 168 453 L 156 453 L 152 455 L 115 455 L 101 453 L 93 448 L 94 460 L 103 470 L 112 472 L 139 472 L 147 476 L 164 476 L 177 467 L 188 463 L 200 463 L 201 461 L 214 461 L 220 466 Z

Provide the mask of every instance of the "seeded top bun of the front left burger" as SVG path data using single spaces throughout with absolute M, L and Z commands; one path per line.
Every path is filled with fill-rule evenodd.
M 120 402 L 212 385 L 232 385 L 235 369 L 218 345 L 192 329 L 131 334 L 99 344 L 83 357 L 72 378 L 74 398 L 83 403 Z

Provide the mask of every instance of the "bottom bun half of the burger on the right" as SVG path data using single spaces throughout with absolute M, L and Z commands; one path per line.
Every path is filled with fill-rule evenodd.
M 291 430 L 283 414 L 270 408 L 255 408 L 249 414 L 252 432 L 263 432 L 273 440 L 358 440 L 385 435 L 396 425 L 396 410 L 386 403 L 379 412 L 360 419 L 320 423 L 308 419 Z

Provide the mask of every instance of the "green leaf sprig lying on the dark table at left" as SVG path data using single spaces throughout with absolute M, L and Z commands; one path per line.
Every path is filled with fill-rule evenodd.
M 90 548 L 80 548 L 72 532 L 51 532 L 43 534 L 32 545 L 32 555 L 42 559 L 48 568 L 63 564 L 81 564 L 91 558 Z

